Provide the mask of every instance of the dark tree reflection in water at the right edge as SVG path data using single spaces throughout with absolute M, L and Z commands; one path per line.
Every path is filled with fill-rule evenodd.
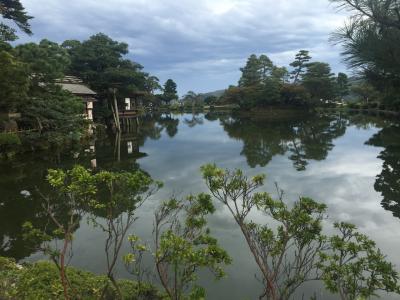
M 383 128 L 366 144 L 384 147 L 378 158 L 382 172 L 376 176 L 374 188 L 382 194 L 382 207 L 400 218 L 400 125 Z

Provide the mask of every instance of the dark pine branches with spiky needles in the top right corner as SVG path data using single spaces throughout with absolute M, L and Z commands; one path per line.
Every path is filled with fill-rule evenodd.
M 332 36 L 343 45 L 348 66 L 372 84 L 388 104 L 394 103 L 400 95 L 398 1 L 331 1 L 352 14 Z

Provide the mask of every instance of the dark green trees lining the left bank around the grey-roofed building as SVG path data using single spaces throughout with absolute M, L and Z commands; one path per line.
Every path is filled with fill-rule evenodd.
M 1 1 L 0 15 L 26 34 L 32 34 L 20 1 Z M 44 39 L 39 43 L 12 46 L 16 29 L 0 24 L 0 146 L 27 143 L 27 148 L 52 148 L 79 140 L 85 133 L 82 100 L 57 82 L 66 75 L 83 80 L 97 93 L 95 120 L 120 129 L 118 112 L 124 99 L 140 94 L 145 105 L 177 99 L 177 86 L 168 79 L 162 87 L 156 76 L 127 58 L 128 45 L 98 33 L 85 41 L 61 44 Z M 10 119 L 10 114 L 19 118 Z M 22 137 L 22 139 L 21 139 Z

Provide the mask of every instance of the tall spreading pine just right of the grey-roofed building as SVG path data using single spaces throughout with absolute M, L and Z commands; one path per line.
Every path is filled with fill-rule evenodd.
M 65 41 L 62 46 L 71 56 L 69 72 L 79 76 L 94 89 L 101 99 L 97 107 L 98 116 L 113 116 L 116 129 L 120 129 L 118 107 L 125 97 L 135 91 L 148 88 L 143 67 L 125 59 L 128 45 L 112 40 L 103 33 L 91 36 L 88 40 Z

